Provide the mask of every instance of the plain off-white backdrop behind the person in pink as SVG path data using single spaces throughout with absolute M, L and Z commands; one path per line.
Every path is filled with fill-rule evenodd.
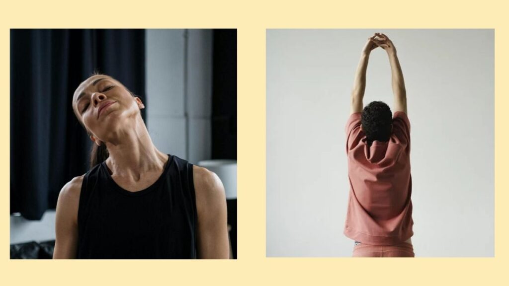
M 398 51 L 417 256 L 494 255 L 494 30 L 267 30 L 267 256 L 351 256 L 345 124 L 362 47 Z M 393 108 L 375 49 L 364 105 Z

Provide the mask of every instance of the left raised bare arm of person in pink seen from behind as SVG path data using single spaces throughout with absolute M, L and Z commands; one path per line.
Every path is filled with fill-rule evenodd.
M 370 59 L 371 51 L 378 47 L 373 42 L 374 38 L 375 36 L 367 38 L 367 43 L 364 45 L 360 55 L 360 61 L 357 65 L 357 70 L 355 71 L 355 79 L 353 82 L 350 114 L 355 112 L 362 112 L 362 107 L 364 106 L 362 104 L 362 99 L 364 98 L 364 91 L 366 89 L 367 62 Z

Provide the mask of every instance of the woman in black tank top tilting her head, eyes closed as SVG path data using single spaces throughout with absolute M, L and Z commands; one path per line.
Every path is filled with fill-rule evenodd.
M 157 150 L 138 97 L 95 74 L 72 107 L 94 149 L 91 170 L 59 194 L 53 259 L 229 258 L 221 181 Z

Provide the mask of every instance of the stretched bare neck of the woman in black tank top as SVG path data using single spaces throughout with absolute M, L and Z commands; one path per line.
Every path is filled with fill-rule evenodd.
M 105 142 L 109 153 L 106 165 L 116 176 L 139 180 L 142 173 L 162 170 L 167 155 L 154 146 L 141 117 L 134 119 L 133 125 L 124 125 L 129 128 L 113 132 Z

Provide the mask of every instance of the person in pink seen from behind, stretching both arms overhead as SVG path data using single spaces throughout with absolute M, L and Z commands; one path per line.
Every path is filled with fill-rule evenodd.
M 381 101 L 363 108 L 370 53 L 387 51 L 392 70 L 394 115 Z M 396 49 L 384 34 L 365 44 L 352 89 L 346 124 L 350 193 L 344 233 L 355 240 L 354 257 L 413 257 L 410 121 L 405 82 Z

